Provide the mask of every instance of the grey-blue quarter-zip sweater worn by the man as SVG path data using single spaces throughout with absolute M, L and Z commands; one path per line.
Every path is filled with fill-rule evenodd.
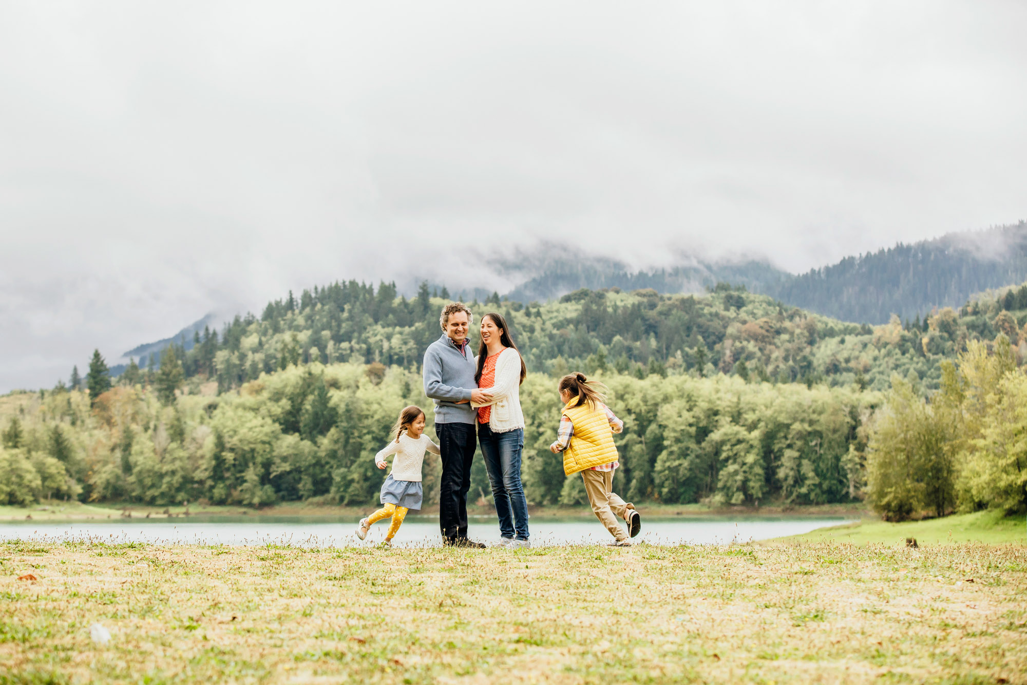
M 449 335 L 443 333 L 424 352 L 423 366 L 424 394 L 435 402 L 435 423 L 473 424 L 477 412 L 470 406 L 470 391 L 478 384 L 470 342 L 464 345 L 460 354 Z M 467 402 L 457 404 L 460 400 Z

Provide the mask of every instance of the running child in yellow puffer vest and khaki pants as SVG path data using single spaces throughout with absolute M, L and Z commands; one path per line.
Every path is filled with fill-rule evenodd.
M 560 378 L 558 389 L 564 409 L 557 441 L 549 445 L 549 450 L 564 453 L 564 473 L 581 474 L 592 510 L 615 538 L 610 544 L 631 546 L 617 517 L 627 522 L 634 538 L 642 530 L 642 516 L 634 504 L 625 503 L 613 492 L 613 470 L 619 466 L 613 434 L 624 429 L 624 422 L 604 403 L 602 384 L 589 383 L 584 373 L 565 375 Z

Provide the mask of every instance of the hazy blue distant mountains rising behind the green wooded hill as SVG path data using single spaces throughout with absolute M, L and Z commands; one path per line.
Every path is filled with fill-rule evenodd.
M 980 231 L 948 233 L 910 245 L 898 244 L 877 252 L 845 257 L 836 264 L 793 276 L 756 259 L 700 261 L 682 259 L 670 268 L 632 271 L 617 259 L 574 254 L 567 246 L 547 244 L 531 253 L 493 259 L 496 273 L 519 283 L 504 297 L 523 302 L 544 302 L 586 288 L 625 291 L 651 288 L 661 294 L 697 293 L 726 282 L 824 316 L 853 323 L 887 323 L 892 314 L 913 319 L 934 308 L 960 307 L 973 295 L 1027 281 L 1027 221 Z M 419 279 L 405 282 L 398 291 L 416 295 Z M 491 291 L 472 283 L 447 284 L 453 297 L 484 301 Z M 429 282 L 439 292 L 443 284 Z M 122 355 L 115 374 L 129 357 L 145 366 L 151 355 L 193 332 L 214 329 L 230 317 L 208 314 L 175 335 L 140 345 Z

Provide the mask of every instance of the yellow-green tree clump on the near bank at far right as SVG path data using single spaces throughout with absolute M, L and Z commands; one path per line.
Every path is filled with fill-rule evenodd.
M 886 518 L 1027 509 L 1027 374 L 1005 335 L 945 361 L 923 397 L 896 376 L 868 426 L 868 495 Z

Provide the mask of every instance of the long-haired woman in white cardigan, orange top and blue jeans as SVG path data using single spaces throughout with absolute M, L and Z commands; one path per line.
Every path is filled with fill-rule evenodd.
M 499 516 L 501 547 L 530 547 L 528 500 L 521 483 L 521 453 L 524 450 L 524 413 L 521 384 L 528 369 L 510 338 L 506 320 L 499 314 L 482 317 L 474 381 L 489 401 L 479 404 L 478 441 L 492 483 L 492 499 Z

